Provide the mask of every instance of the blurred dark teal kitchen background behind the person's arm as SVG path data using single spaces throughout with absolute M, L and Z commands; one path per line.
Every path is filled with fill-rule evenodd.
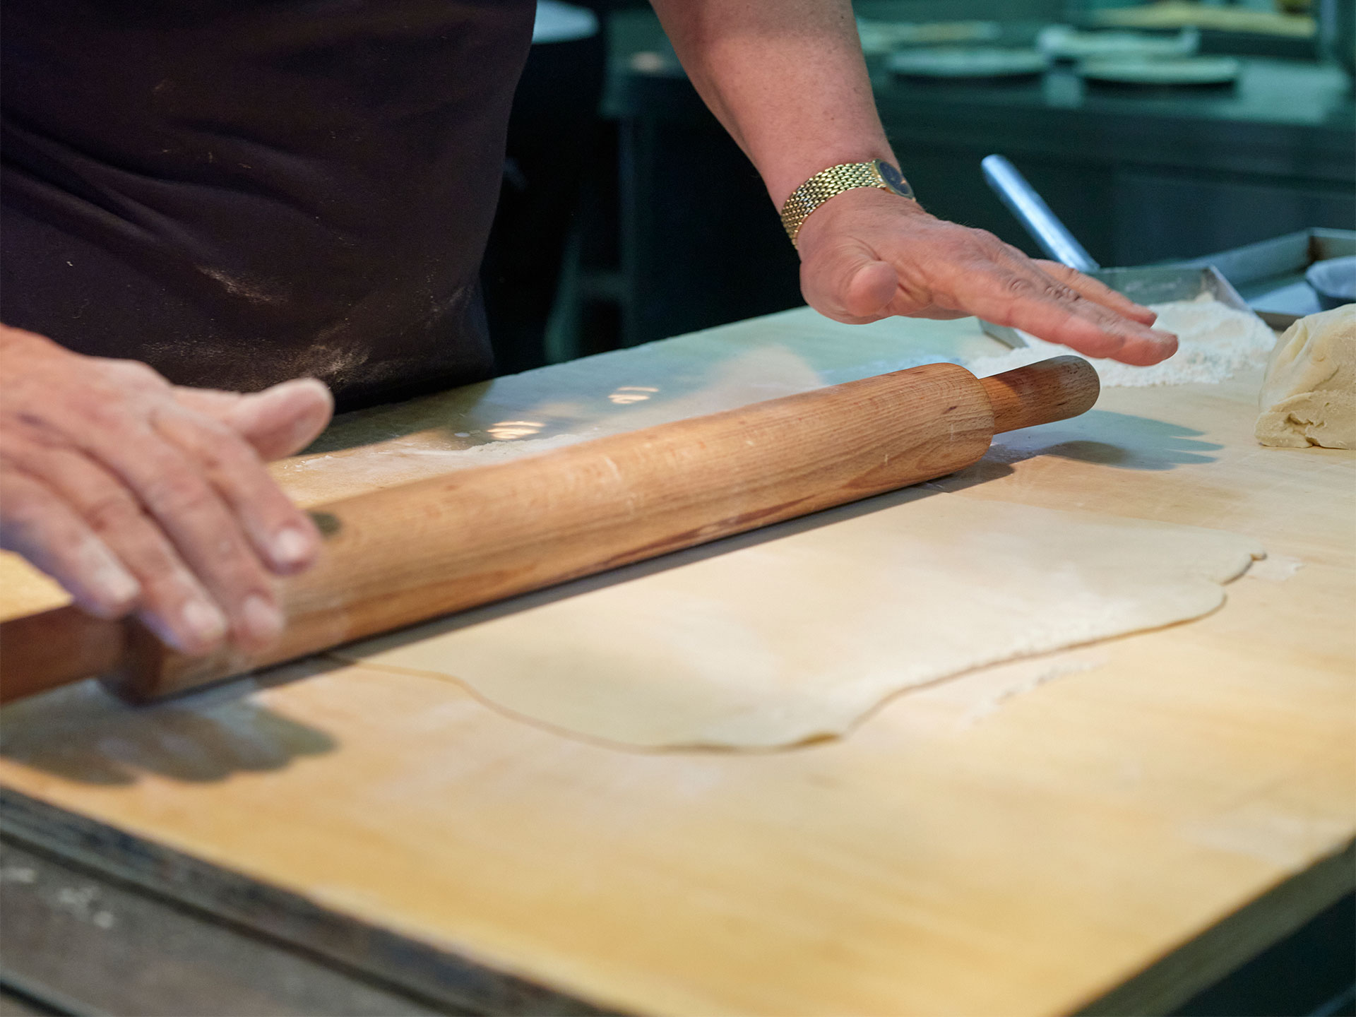
M 1108 266 L 1356 228 L 1356 0 L 856 12 L 885 130 L 937 216 L 1039 254 L 984 184 L 999 152 Z M 499 370 L 796 306 L 796 267 L 648 7 L 544 0 L 483 274 Z

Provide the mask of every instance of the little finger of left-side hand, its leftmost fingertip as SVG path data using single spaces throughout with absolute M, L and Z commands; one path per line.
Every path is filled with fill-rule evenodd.
M 0 546 L 61 583 L 89 614 L 118 618 L 136 605 L 140 583 L 42 481 L 7 469 L 3 518 Z

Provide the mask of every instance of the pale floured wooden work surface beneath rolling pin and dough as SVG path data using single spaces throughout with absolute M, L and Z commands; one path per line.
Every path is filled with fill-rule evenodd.
M 279 476 L 315 502 L 989 342 L 788 312 L 358 415 Z M 1272 559 L 1223 609 L 841 740 L 624 751 L 313 659 L 151 709 L 19 704 L 0 785 L 602 1008 L 1162 1012 L 1353 883 L 1356 457 L 1258 447 L 1258 384 L 1108 389 L 937 484 L 1252 534 Z

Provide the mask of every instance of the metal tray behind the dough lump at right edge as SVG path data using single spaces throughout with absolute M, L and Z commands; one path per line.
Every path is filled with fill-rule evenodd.
M 1262 321 L 1280 330 L 1322 309 L 1304 270 L 1347 255 L 1356 255 L 1356 231 L 1302 229 L 1178 264 L 1215 266 Z

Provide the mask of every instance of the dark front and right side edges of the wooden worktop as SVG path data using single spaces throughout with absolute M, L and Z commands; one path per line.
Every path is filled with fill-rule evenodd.
M 0 841 L 132 884 L 430 1001 L 492 1014 L 616 1014 L 526 978 L 321 907 L 0 785 Z M 1281 879 L 1109 993 L 1086 1017 L 1166 1014 L 1356 888 L 1356 841 Z

